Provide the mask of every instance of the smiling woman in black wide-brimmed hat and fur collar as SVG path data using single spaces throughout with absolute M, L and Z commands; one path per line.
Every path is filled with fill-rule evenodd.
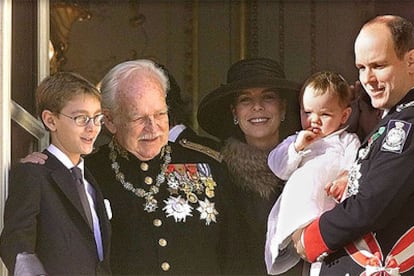
M 227 83 L 204 97 L 198 108 L 199 125 L 224 142 L 221 152 L 244 218 L 238 235 L 244 235 L 247 246 L 240 261 L 245 274 L 266 274 L 267 216 L 283 187 L 268 168 L 267 155 L 300 126 L 299 88 L 276 61 L 244 59 L 230 67 Z

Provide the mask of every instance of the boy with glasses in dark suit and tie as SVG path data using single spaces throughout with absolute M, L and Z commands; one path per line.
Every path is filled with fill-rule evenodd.
M 17 164 L 0 237 L 15 275 L 110 274 L 110 224 L 99 187 L 81 157 L 101 130 L 101 96 L 74 73 L 58 72 L 36 90 L 51 144 L 44 165 Z

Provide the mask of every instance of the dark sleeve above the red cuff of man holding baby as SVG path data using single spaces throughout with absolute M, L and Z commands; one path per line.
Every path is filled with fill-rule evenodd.
M 414 199 L 414 167 L 409 165 L 414 162 L 413 132 L 412 127 L 402 152 L 381 150 L 386 134 L 378 139 L 361 162 L 358 194 L 321 217 L 321 232 L 329 248 L 342 247 L 371 231 L 392 232 L 395 227 L 396 234 L 401 234 L 397 224 L 399 228 L 412 224 L 404 213 Z

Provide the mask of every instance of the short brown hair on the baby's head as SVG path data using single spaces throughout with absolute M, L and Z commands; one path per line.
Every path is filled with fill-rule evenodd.
M 302 86 L 299 94 L 300 106 L 303 107 L 303 94 L 307 87 L 314 90 L 316 96 L 329 93 L 338 97 L 339 104 L 346 108 L 353 99 L 348 82 L 340 74 L 331 71 L 321 71 L 310 76 Z

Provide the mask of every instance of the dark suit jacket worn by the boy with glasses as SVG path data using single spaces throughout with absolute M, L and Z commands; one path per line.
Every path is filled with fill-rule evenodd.
M 3 262 L 12 272 L 18 253 L 36 253 L 49 275 L 109 274 L 111 227 L 95 179 L 85 168 L 85 178 L 96 191 L 102 262 L 70 170 L 48 151 L 44 153 L 45 165 L 18 164 L 11 171 L 0 238 Z

